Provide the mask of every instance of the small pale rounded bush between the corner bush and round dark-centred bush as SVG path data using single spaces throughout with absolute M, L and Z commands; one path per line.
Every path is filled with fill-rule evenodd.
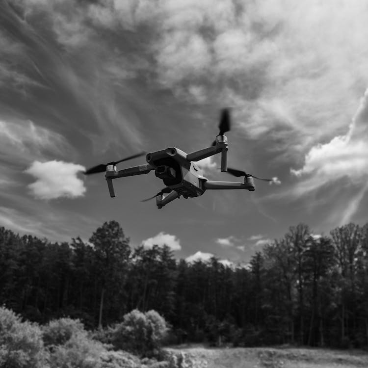
M 50 321 L 43 328 L 43 340 L 46 346 L 58 346 L 68 342 L 72 336 L 87 335 L 79 319 L 60 318 Z

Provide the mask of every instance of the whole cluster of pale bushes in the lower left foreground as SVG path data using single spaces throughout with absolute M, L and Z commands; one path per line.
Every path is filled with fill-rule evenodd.
M 140 314 L 140 315 L 138 315 Z M 138 333 L 135 324 L 141 319 L 145 334 Z M 131 328 L 133 327 L 133 329 Z M 141 332 L 141 331 L 140 331 Z M 141 358 L 158 355 L 160 341 L 166 332 L 164 319 L 155 311 L 141 314 L 133 311 L 114 329 L 112 345 L 96 340 L 77 319 L 60 318 L 47 325 L 22 321 L 11 310 L 0 308 L 1 368 L 177 368 L 169 362 L 139 359 L 125 351 L 134 351 Z M 122 338 L 124 337 L 124 338 Z M 155 351 L 153 351 L 155 348 Z M 175 355 L 175 354 L 174 354 Z M 168 356 L 168 359 L 169 356 Z

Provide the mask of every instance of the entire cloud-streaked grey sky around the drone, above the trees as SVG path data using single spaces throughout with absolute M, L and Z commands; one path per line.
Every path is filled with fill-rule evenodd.
M 367 17 L 362 0 L 1 0 L 0 225 L 68 241 L 115 219 L 133 246 L 247 262 L 299 222 L 366 223 Z M 163 187 L 153 172 L 116 198 L 82 174 L 204 148 L 224 106 L 229 166 L 281 185 L 158 210 L 140 202 Z M 218 166 L 202 163 L 234 179 Z

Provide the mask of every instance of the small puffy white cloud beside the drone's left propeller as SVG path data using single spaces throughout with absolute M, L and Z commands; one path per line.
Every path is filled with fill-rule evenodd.
M 36 178 L 28 185 L 30 192 L 38 199 L 56 199 L 61 197 L 77 198 L 83 196 L 86 188 L 81 179 L 77 177 L 85 167 L 63 161 L 34 161 L 25 171 Z

